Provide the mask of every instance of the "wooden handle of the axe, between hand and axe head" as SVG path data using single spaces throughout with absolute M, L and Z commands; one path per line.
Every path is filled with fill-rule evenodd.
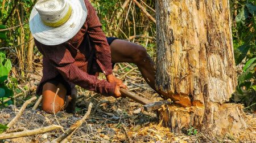
M 146 104 L 149 104 L 149 103 L 152 103 L 150 100 L 146 99 L 146 98 L 143 98 L 143 97 L 140 97 L 138 96 L 137 94 L 135 93 L 132 93 L 132 92 L 128 92 L 127 90 L 125 89 L 120 89 L 120 92 L 122 94 L 122 96 L 125 96 L 125 97 L 128 97 L 130 99 L 133 99 L 134 101 L 138 102 L 138 103 L 141 103 L 142 105 L 146 105 Z

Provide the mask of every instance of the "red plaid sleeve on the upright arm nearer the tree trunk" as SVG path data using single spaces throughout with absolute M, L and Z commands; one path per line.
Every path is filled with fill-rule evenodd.
M 86 22 L 88 24 L 88 31 L 90 40 L 95 45 L 97 63 L 100 66 L 104 75 L 112 74 L 112 63 L 110 46 L 106 40 L 106 36 L 101 29 L 101 23 L 98 19 L 96 11 L 88 0 L 85 0 L 85 5 L 88 9 Z

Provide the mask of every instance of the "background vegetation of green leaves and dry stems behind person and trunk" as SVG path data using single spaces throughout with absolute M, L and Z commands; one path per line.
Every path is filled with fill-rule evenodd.
M 0 0 L 0 104 L 6 98 L 32 90 L 31 74 L 42 68 L 42 55 L 34 47 L 28 27 L 33 0 Z M 107 36 L 115 36 L 143 45 L 155 60 L 155 1 L 90 1 L 101 19 Z M 256 1 L 232 0 L 232 32 L 237 64 L 238 86 L 232 100 L 256 110 Z M 139 6 L 143 6 L 146 12 Z M 152 18 L 148 17 L 148 13 Z M 13 67 L 11 67 L 11 64 Z M 10 72 L 11 71 L 11 72 Z M 7 78 L 7 75 L 9 77 Z M 12 92 L 14 91 L 14 92 Z M 9 104 L 10 100 L 6 101 Z

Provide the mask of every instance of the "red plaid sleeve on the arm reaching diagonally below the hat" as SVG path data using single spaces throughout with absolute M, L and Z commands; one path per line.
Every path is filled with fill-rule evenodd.
M 35 44 L 44 57 L 60 72 L 65 80 L 70 81 L 84 89 L 92 90 L 105 96 L 113 96 L 115 83 L 106 80 L 99 80 L 96 76 L 89 75 L 75 65 L 75 59 L 64 45 L 48 46 L 40 44 L 35 40 Z

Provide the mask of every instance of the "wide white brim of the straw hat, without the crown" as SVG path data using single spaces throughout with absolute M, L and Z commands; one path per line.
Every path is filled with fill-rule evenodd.
M 84 0 L 67 0 L 72 7 L 68 21 L 59 27 L 48 27 L 43 23 L 34 7 L 30 14 L 30 31 L 34 38 L 45 45 L 59 45 L 76 35 L 84 25 L 87 9 Z

